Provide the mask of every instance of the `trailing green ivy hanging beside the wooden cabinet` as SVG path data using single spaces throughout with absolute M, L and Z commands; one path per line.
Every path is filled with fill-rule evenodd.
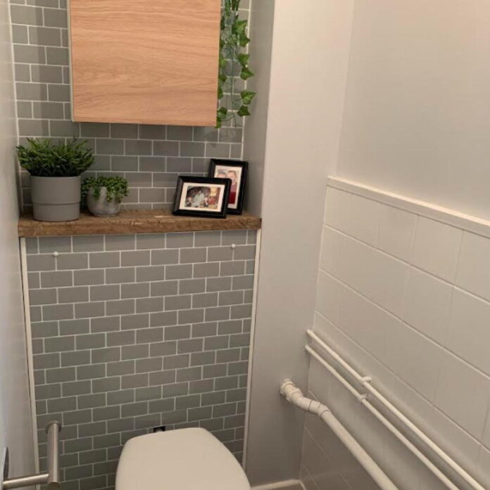
M 222 127 L 230 120 L 237 126 L 237 116 L 250 115 L 250 104 L 256 96 L 256 92 L 246 89 L 237 93 L 237 77 L 244 82 L 253 77 L 249 68 L 250 55 L 246 53 L 250 42 L 246 35 L 249 21 L 239 18 L 239 7 L 240 0 L 225 0 L 222 8 L 216 127 Z

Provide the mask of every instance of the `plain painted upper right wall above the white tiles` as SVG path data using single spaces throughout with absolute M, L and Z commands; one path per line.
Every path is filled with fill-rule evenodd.
M 337 175 L 489 219 L 489 2 L 355 5 Z

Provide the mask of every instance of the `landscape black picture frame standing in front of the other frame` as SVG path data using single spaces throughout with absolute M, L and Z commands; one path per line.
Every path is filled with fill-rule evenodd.
M 195 175 L 179 175 L 177 179 L 177 188 L 175 189 L 175 199 L 172 213 L 182 216 L 226 218 L 231 183 L 232 181 L 230 179 L 214 179 L 211 177 L 196 177 Z M 196 185 L 193 186 L 192 184 Z M 210 195 L 212 195 L 211 189 L 211 194 L 206 194 L 206 191 L 202 191 L 202 188 L 206 187 L 219 187 L 221 189 L 217 203 L 219 207 L 216 210 L 211 211 L 211 206 L 209 206 Z M 194 194 L 191 194 L 191 189 L 197 188 L 201 188 L 201 191 L 194 190 Z M 186 197 L 182 199 L 182 194 L 184 192 L 186 193 Z M 192 198 L 194 198 L 194 203 L 196 204 L 195 207 L 194 205 L 187 205 L 187 199 L 190 200 Z M 190 203 L 191 201 L 188 202 Z

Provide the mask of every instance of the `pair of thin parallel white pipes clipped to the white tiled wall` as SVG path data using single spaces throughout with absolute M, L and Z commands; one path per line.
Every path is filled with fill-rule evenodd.
M 403 413 L 401 413 L 401 411 L 398 410 L 398 408 L 396 408 L 390 401 L 388 401 L 387 398 L 385 398 L 382 394 L 380 394 L 379 391 L 375 389 L 375 387 L 372 387 L 371 377 L 360 375 L 355 369 L 352 368 L 351 365 L 346 363 L 346 361 L 343 358 L 341 358 L 341 356 L 339 356 L 339 354 L 336 351 L 334 351 L 334 349 L 328 346 L 325 343 L 325 341 L 320 339 L 320 337 L 318 337 L 318 335 L 315 334 L 315 332 L 313 332 L 312 330 L 308 330 L 307 334 L 308 337 L 310 337 L 310 339 L 313 339 L 313 341 L 315 341 L 322 349 L 324 349 L 327 353 L 329 353 L 329 356 L 331 356 L 334 360 L 336 360 L 337 363 L 339 363 L 339 365 L 342 366 L 342 368 L 344 368 L 354 379 L 356 379 L 356 382 L 360 383 L 361 386 L 363 386 L 366 391 L 372 394 L 372 396 L 374 396 L 377 399 L 377 401 L 382 403 L 382 405 L 385 408 L 387 408 L 387 410 L 389 410 L 389 412 L 392 415 L 394 415 L 396 419 L 402 422 L 403 425 L 405 425 L 408 429 L 410 429 L 410 431 L 413 432 L 413 434 L 415 434 L 418 437 L 418 439 L 420 439 L 420 441 L 422 441 L 428 448 L 434 451 L 436 456 L 438 456 L 441 460 L 443 460 L 444 463 L 446 463 L 446 465 L 451 467 L 451 469 L 459 477 L 461 477 L 467 484 L 469 484 L 472 489 L 486 490 L 484 486 L 479 484 L 468 472 L 466 472 L 462 467 L 460 467 L 460 465 L 458 465 L 458 463 L 456 463 L 456 461 L 453 460 L 451 456 L 448 456 L 447 453 L 445 453 L 434 441 L 432 441 L 432 439 L 430 439 L 429 436 L 427 436 L 413 422 L 411 422 L 406 417 L 406 415 L 403 415 Z M 387 418 L 384 417 L 384 415 L 382 415 L 382 413 L 380 413 L 379 410 L 377 410 L 372 405 L 372 403 L 370 403 L 370 401 L 368 401 L 365 394 L 360 394 L 356 389 L 354 389 L 352 385 L 343 376 L 341 376 L 339 372 L 337 372 L 337 370 L 335 370 L 332 367 L 332 365 L 327 363 L 327 361 L 324 358 L 322 358 L 320 354 L 314 351 L 313 348 L 311 348 L 310 346 L 306 346 L 306 351 L 310 353 L 310 355 L 313 356 L 313 358 L 318 360 L 318 362 L 320 362 L 320 364 L 322 364 L 322 366 L 326 368 L 332 375 L 334 375 L 334 377 L 336 377 L 344 385 L 344 387 L 348 387 L 348 390 L 351 392 L 351 394 L 353 394 L 353 396 L 356 396 L 356 398 L 360 400 L 360 403 L 362 403 L 363 406 L 368 408 L 368 410 L 370 410 L 370 412 L 373 415 L 375 415 L 377 420 L 379 420 L 379 422 L 382 422 L 382 424 L 385 427 L 387 427 L 387 429 L 389 429 L 389 431 L 392 434 L 394 434 L 397 437 L 397 439 L 401 441 L 406 446 L 406 448 L 408 448 L 422 463 L 424 463 L 424 465 L 426 465 L 427 468 L 437 478 L 439 478 L 441 482 L 443 482 L 448 487 L 448 489 L 459 490 L 458 486 L 453 484 L 453 482 L 451 482 L 451 480 L 446 475 L 444 475 L 444 473 L 441 470 L 439 470 L 439 468 L 436 467 L 436 465 L 434 465 L 434 463 L 432 463 L 432 461 L 430 461 L 427 458 L 427 456 L 425 456 L 421 451 L 419 451 L 419 449 L 415 447 L 406 438 L 406 436 L 404 436 L 398 429 L 396 429 L 396 427 L 393 424 L 391 424 L 391 422 L 389 422 L 389 420 L 387 420 Z

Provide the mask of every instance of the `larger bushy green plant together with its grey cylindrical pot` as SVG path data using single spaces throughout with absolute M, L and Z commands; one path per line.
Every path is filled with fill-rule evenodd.
M 94 163 L 87 142 L 74 138 L 54 144 L 49 139 L 27 139 L 26 146 L 17 146 L 17 155 L 30 173 L 34 220 L 80 218 L 80 174 Z

